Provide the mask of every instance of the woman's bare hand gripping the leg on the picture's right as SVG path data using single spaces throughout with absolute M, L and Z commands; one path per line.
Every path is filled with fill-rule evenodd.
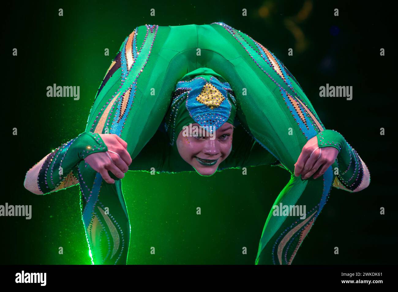
M 322 151 L 317 148 L 318 140 L 316 136 L 309 139 L 302 147 L 300 156 L 295 163 L 295 176 L 301 174 L 301 178 L 306 180 L 314 174 L 314 179 L 318 178 L 334 163 L 339 154 L 339 151 L 334 147 L 323 147 Z M 314 151 L 314 149 L 316 150 Z M 312 156 L 310 157 L 311 153 Z M 321 153 L 320 156 L 319 153 Z

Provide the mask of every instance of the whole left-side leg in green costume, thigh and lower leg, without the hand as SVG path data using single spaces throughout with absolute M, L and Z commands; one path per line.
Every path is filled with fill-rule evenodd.
M 137 27 L 98 89 L 86 131 L 118 135 L 134 160 L 161 124 L 177 81 L 195 64 L 188 56 L 196 57 L 196 40 L 195 25 Z M 107 184 L 84 161 L 79 169 L 82 218 L 93 263 L 126 263 L 130 225 L 121 181 Z

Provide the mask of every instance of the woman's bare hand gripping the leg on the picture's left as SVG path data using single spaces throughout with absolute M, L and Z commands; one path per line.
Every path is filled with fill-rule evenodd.
M 111 171 L 117 178 L 124 178 L 124 174 L 129 170 L 129 165 L 131 164 L 131 156 L 127 152 L 127 143 L 116 134 L 99 134 L 101 139 L 104 141 L 108 150 L 116 152 L 119 154 L 117 156 L 115 153 L 108 152 L 97 152 L 90 154 L 84 158 L 92 169 L 99 172 L 102 178 L 108 184 L 114 184 L 115 180 L 111 178 L 108 174 L 108 170 Z

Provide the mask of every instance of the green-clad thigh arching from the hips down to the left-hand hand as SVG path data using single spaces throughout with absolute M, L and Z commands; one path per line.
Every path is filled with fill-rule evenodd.
M 134 159 L 161 124 L 178 80 L 195 69 L 196 39 L 195 25 L 137 27 L 103 80 L 86 130 L 119 135 Z

